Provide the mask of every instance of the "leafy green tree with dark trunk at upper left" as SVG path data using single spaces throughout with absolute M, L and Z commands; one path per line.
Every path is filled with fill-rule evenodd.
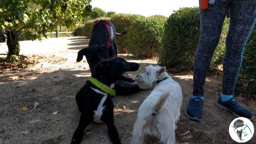
M 0 0 L 0 33 L 7 34 L 8 54 L 18 55 L 18 35 L 46 37 L 58 24 L 70 27 L 91 13 L 91 0 Z M 18 46 L 18 47 L 17 47 Z

